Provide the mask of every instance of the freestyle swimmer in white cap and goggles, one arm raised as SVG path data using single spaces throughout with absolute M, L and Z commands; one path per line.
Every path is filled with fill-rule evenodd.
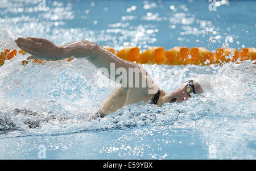
M 135 86 L 135 81 L 131 82 L 130 80 L 127 80 L 127 82 L 121 82 L 121 79 L 117 79 L 117 74 L 115 74 L 114 78 L 109 74 L 109 77 L 121 86 L 114 89 L 114 91 L 101 103 L 100 110 L 92 116 L 92 119 L 96 119 L 99 116 L 103 118 L 131 103 L 146 101 L 154 105 L 162 106 L 167 102 L 173 103 L 186 101 L 192 94 L 201 94 L 205 90 L 212 89 L 209 77 L 205 74 L 201 74 L 193 80 L 184 82 L 171 93 L 166 93 L 166 91 L 159 89 L 159 85 L 154 83 L 141 65 L 122 60 L 112 52 L 102 48 L 100 45 L 87 40 L 75 41 L 64 45 L 55 45 L 46 39 L 18 37 L 15 42 L 20 49 L 31 54 L 27 57 L 27 60 L 62 60 L 68 57 L 75 57 L 78 59 L 85 58 L 98 69 L 106 68 L 108 70 L 107 73 L 112 73 L 110 69 L 111 64 L 115 64 L 115 68 L 124 68 L 127 71 L 128 78 L 130 78 L 130 73 L 128 72 L 129 68 L 134 70 L 139 69 L 141 71 L 139 77 L 137 77 L 139 80 L 135 81 L 142 82 L 143 79 L 146 78 L 147 82 L 150 84 L 146 84 L 146 86 L 142 86 L 141 84 Z

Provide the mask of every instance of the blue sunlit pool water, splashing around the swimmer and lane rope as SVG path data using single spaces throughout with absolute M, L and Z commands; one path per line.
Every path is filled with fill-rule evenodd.
M 116 51 L 255 47 L 256 1 L 220 1 L 216 11 L 208 1 L 190 0 L 43 2 L 1 2 L 3 47 L 12 48 L 15 36 L 56 44 L 87 39 Z M 24 59 L 0 68 L 0 159 L 41 159 L 42 149 L 46 159 L 256 159 L 252 61 L 143 65 L 167 92 L 200 73 L 226 83 L 185 102 L 141 102 L 88 122 L 114 89 L 99 86 L 94 66 L 84 59 L 22 66 Z

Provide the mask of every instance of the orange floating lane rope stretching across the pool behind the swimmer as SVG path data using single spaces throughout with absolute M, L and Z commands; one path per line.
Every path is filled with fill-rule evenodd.
M 108 51 L 114 53 L 123 60 L 137 62 L 139 64 L 167 64 L 167 65 L 209 65 L 222 64 L 223 62 L 236 62 L 238 59 L 256 60 L 256 48 L 242 48 L 240 52 L 234 48 L 218 48 L 215 54 L 208 51 L 204 47 L 174 47 L 172 49 L 164 50 L 163 47 L 151 47 L 146 51 L 139 53 L 138 47 L 125 47 L 121 51 L 115 53 L 111 47 L 102 46 Z M 17 52 L 26 55 L 22 50 L 5 49 L 0 55 L 0 66 L 5 63 L 5 60 L 10 60 L 17 55 Z M 63 59 L 72 61 L 73 58 Z M 32 62 L 37 64 L 45 64 L 47 60 L 35 59 Z M 256 62 L 255 62 L 256 63 Z M 255 64 L 254 63 L 254 64 Z M 27 60 L 22 61 L 22 65 L 28 64 Z

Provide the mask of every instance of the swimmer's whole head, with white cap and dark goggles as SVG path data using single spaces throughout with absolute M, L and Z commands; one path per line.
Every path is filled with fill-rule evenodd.
M 182 102 L 191 97 L 192 94 L 201 94 L 203 91 L 212 90 L 210 76 L 200 74 L 189 81 L 181 84 L 177 89 L 168 94 L 168 102 Z

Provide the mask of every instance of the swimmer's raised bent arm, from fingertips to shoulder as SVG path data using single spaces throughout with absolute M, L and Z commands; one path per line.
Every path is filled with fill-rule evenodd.
M 16 44 L 19 48 L 23 49 L 23 51 L 30 53 L 32 56 L 29 56 L 27 59 L 45 59 L 45 60 L 61 60 L 67 57 L 76 57 L 76 58 L 86 58 L 96 68 L 105 68 L 108 72 L 108 75 L 112 80 L 118 82 L 117 79 L 120 74 L 123 73 L 123 69 L 125 69 L 127 73 L 126 82 L 122 82 L 123 87 L 135 87 L 136 81 L 139 83 L 147 82 L 150 83 L 150 87 L 153 87 L 152 78 L 146 72 L 141 65 L 135 64 L 130 61 L 122 60 L 112 52 L 100 47 L 96 43 L 80 40 L 72 43 L 64 44 L 64 45 L 55 45 L 51 41 L 36 37 L 18 37 L 15 40 Z M 110 67 L 110 66 L 114 66 Z M 120 73 L 115 74 L 119 69 Z M 140 72 L 139 79 L 135 80 L 133 78 L 133 82 L 131 82 L 129 76 L 129 69 L 137 69 Z M 112 72 L 114 70 L 114 77 L 112 76 Z M 133 74 L 133 73 L 132 73 Z M 121 81 L 121 80 L 120 80 Z M 122 80 L 123 81 L 123 80 Z M 130 82 L 130 84 L 129 84 Z M 121 82 L 118 82 L 121 84 Z M 145 92 L 147 91 L 149 85 L 146 84 Z

